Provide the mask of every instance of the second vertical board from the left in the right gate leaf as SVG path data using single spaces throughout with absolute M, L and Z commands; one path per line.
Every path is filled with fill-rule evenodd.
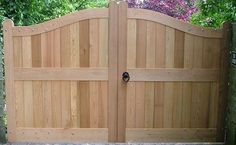
M 146 46 L 147 46 L 147 22 L 137 20 L 137 50 L 136 50 L 136 67 L 146 67 Z M 136 127 L 142 128 L 145 125 L 145 82 L 136 83 Z

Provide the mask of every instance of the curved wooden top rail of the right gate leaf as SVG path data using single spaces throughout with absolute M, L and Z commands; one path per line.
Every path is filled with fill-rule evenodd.
M 209 38 L 222 38 L 222 29 L 209 29 L 202 28 L 188 24 L 183 21 L 179 21 L 176 18 L 169 17 L 167 15 L 145 9 L 128 9 L 128 18 L 130 19 L 142 19 L 157 22 L 168 27 L 178 29 L 180 31 L 193 34 L 196 36 L 209 37 Z

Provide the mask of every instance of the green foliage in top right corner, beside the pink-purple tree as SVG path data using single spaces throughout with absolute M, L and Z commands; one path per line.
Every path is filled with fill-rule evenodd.
M 197 7 L 199 11 L 190 20 L 195 25 L 217 28 L 236 20 L 235 0 L 198 0 Z

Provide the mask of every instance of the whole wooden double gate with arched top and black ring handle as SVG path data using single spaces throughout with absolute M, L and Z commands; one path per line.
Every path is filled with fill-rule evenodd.
M 226 28 L 123 2 L 33 26 L 6 20 L 9 141 L 222 139 Z

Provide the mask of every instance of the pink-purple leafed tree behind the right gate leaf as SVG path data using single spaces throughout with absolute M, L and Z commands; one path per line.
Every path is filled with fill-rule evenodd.
M 197 11 L 195 0 L 126 0 L 130 8 L 154 10 L 171 17 L 188 21 Z

